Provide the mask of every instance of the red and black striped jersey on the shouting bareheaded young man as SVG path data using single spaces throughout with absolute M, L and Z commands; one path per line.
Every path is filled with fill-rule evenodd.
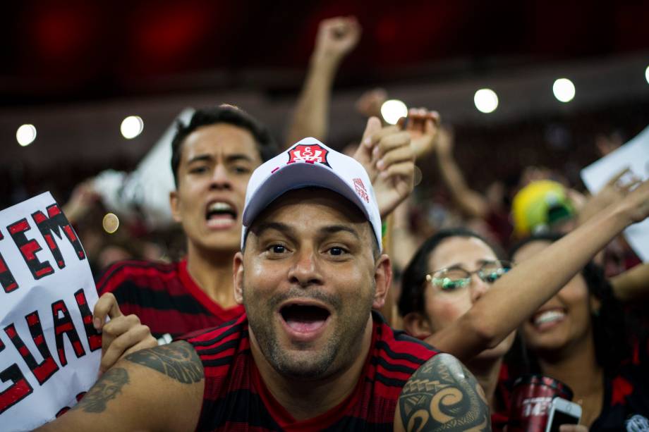
M 122 313 L 137 315 L 155 338 L 220 326 L 244 312 L 243 306 L 224 309 L 208 297 L 187 272 L 185 260 L 112 264 L 97 280 L 97 291 L 112 292 Z

